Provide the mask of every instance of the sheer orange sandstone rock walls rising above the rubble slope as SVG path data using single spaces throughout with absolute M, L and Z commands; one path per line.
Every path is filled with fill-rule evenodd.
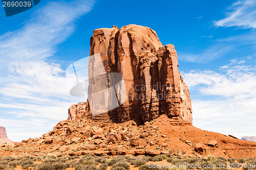
M 119 30 L 116 26 L 95 30 L 90 46 L 90 55 L 100 54 L 105 72 L 122 74 L 127 100 L 96 116 L 91 115 L 88 102 L 72 105 L 68 120 L 83 115 L 117 123 L 130 119 L 144 123 L 166 114 L 192 124 L 189 91 L 178 70 L 174 45 L 163 46 L 148 27 L 128 25 Z

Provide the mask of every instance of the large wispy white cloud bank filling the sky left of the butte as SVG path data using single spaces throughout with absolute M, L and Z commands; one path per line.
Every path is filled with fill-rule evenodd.
M 80 0 L 50 2 L 22 28 L 0 36 L 0 124 L 12 140 L 42 135 L 67 118 L 68 107 L 78 102 L 69 95 L 65 71 L 49 57 L 92 5 Z M 26 136 L 16 136 L 22 131 Z

